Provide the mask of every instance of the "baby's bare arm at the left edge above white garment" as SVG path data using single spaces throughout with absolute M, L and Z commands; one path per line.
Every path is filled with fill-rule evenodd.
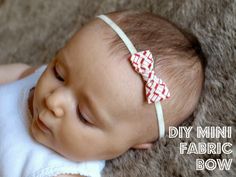
M 0 65 L 0 84 L 16 81 L 34 72 L 36 67 L 23 63 Z

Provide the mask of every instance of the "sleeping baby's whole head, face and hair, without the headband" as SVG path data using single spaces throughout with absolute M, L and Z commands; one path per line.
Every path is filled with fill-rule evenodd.
M 154 71 L 170 91 L 162 100 L 165 127 L 194 110 L 202 90 L 202 54 L 197 40 L 149 13 L 109 14 L 137 51 L 149 49 Z M 155 104 L 117 33 L 96 18 L 56 54 L 40 77 L 33 100 L 33 137 L 75 160 L 106 160 L 130 148 L 148 148 L 159 138 Z

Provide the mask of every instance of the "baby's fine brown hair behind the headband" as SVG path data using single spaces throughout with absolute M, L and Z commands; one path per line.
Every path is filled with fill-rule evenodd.
M 180 124 L 194 111 L 203 87 L 206 60 L 197 38 L 148 12 L 124 11 L 108 16 L 125 32 L 137 51 L 152 52 L 155 72 L 171 93 L 169 103 L 164 106 L 170 110 L 164 115 L 166 125 Z M 115 32 L 112 35 L 111 52 L 122 51 L 127 59 L 130 56 L 127 47 Z

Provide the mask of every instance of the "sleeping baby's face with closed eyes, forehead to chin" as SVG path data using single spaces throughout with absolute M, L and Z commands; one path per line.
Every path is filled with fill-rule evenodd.
M 111 54 L 102 23 L 97 19 L 71 38 L 34 92 L 33 137 L 75 161 L 119 156 L 145 133 L 145 119 L 155 117 L 129 60 Z

